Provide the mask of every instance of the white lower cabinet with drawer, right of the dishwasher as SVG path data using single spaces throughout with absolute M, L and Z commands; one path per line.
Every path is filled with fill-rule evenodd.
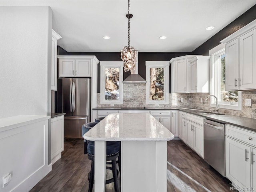
M 256 133 L 226 125 L 226 177 L 244 191 L 256 187 Z

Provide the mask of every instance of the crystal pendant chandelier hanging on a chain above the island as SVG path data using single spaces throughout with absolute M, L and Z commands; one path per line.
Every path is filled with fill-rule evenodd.
M 132 72 L 135 67 L 135 58 L 136 58 L 136 50 L 134 47 L 130 46 L 130 19 L 132 18 L 132 14 L 130 14 L 130 0 L 128 0 L 128 14 L 126 17 L 128 18 L 128 46 L 125 46 L 121 50 L 121 59 L 124 62 L 124 71 L 128 72 L 129 70 Z

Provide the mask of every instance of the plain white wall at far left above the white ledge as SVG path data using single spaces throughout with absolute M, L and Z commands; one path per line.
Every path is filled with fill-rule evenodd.
M 52 10 L 0 7 L 0 118 L 50 115 Z

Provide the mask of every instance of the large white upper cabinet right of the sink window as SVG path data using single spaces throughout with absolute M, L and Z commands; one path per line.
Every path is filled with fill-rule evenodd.
M 256 89 L 256 20 L 224 40 L 226 90 Z

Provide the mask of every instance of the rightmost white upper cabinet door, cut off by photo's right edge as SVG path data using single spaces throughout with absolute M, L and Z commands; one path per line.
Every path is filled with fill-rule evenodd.
M 256 88 L 256 29 L 240 38 L 239 89 Z

